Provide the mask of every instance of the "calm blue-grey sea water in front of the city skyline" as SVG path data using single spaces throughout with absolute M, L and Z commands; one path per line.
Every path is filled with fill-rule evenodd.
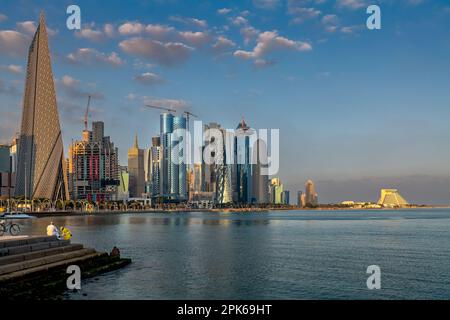
M 117 214 L 52 219 L 133 263 L 68 299 L 450 299 L 450 210 Z M 50 218 L 23 221 L 43 234 Z M 381 290 L 366 269 L 381 268 Z

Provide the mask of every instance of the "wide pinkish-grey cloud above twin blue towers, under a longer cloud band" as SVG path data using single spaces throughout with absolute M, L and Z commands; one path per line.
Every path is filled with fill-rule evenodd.
M 159 64 L 172 66 L 185 62 L 193 48 L 179 42 L 162 43 L 156 40 L 132 38 L 120 42 L 122 51 L 155 61 Z

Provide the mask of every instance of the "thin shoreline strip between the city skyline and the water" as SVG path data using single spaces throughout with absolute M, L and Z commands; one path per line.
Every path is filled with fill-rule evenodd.
M 450 205 L 442 206 L 416 206 L 411 208 L 342 208 L 342 207 L 320 207 L 320 208 L 228 208 L 228 209 L 144 209 L 144 210 L 102 210 L 96 212 L 79 212 L 79 211 L 55 211 L 55 212 L 31 212 L 28 213 L 38 218 L 44 217 L 61 217 L 61 216 L 95 216 L 95 215 L 114 215 L 114 214 L 135 214 L 135 213 L 162 213 L 162 214 L 178 214 L 178 213 L 269 213 L 278 211 L 305 211 L 305 212 L 326 212 L 326 211 L 402 211 L 402 210 L 433 210 L 433 209 L 450 209 Z

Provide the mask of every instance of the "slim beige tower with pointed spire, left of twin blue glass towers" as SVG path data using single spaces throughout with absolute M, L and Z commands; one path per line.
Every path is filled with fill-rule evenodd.
M 144 150 L 139 149 L 137 135 L 133 147 L 128 150 L 128 172 L 130 197 L 142 197 L 145 193 Z

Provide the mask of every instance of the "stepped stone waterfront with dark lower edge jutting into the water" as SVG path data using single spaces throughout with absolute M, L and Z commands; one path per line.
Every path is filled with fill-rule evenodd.
M 55 236 L 0 238 L 0 297 L 47 299 L 67 289 L 67 268 L 77 266 L 83 279 L 117 270 L 130 259 L 110 256 Z

